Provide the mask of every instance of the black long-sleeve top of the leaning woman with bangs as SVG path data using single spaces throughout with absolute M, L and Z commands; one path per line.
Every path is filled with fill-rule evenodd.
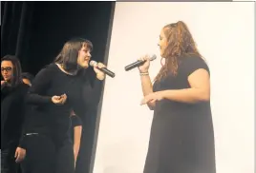
M 57 142 L 68 137 L 70 128 L 70 113 L 82 117 L 88 106 L 98 102 L 99 87 L 102 81 L 96 80 L 95 87 L 87 87 L 87 82 L 81 75 L 64 73 L 57 65 L 51 64 L 41 69 L 35 76 L 27 96 L 27 103 L 33 105 L 28 112 L 23 133 L 39 133 L 53 137 Z M 67 95 L 64 105 L 52 102 L 54 95 Z M 26 147 L 26 140 L 21 142 Z

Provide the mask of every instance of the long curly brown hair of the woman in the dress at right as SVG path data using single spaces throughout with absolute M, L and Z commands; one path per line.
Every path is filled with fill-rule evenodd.
M 163 27 L 163 32 L 167 39 L 167 47 L 162 55 L 165 58 L 165 65 L 160 68 L 155 81 L 160 81 L 169 71 L 173 76 L 177 76 L 181 58 L 189 57 L 188 55 L 202 57 L 184 22 L 166 25 Z

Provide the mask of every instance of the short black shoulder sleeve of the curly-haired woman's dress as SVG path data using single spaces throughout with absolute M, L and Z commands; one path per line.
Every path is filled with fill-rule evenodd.
M 210 74 L 209 67 L 201 57 L 187 57 L 181 66 L 182 73 L 184 73 L 186 77 L 200 68 L 205 69 Z

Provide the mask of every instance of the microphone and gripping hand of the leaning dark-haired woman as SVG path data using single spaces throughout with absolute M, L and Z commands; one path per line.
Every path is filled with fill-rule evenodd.
M 91 61 L 90 62 L 90 66 L 94 67 L 95 71 L 96 71 L 96 78 L 99 80 L 103 80 L 105 78 L 105 74 L 107 74 L 108 76 L 114 78 L 115 77 L 115 73 L 112 72 L 111 70 L 109 70 L 105 65 L 103 65 L 102 63 L 96 63 L 96 61 Z

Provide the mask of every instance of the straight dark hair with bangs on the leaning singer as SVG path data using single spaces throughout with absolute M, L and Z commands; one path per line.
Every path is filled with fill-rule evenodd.
M 68 72 L 74 72 L 78 69 L 77 58 L 81 48 L 87 47 L 93 50 L 91 41 L 83 38 L 74 38 L 66 42 L 60 53 L 54 59 L 54 63 L 62 65 Z

